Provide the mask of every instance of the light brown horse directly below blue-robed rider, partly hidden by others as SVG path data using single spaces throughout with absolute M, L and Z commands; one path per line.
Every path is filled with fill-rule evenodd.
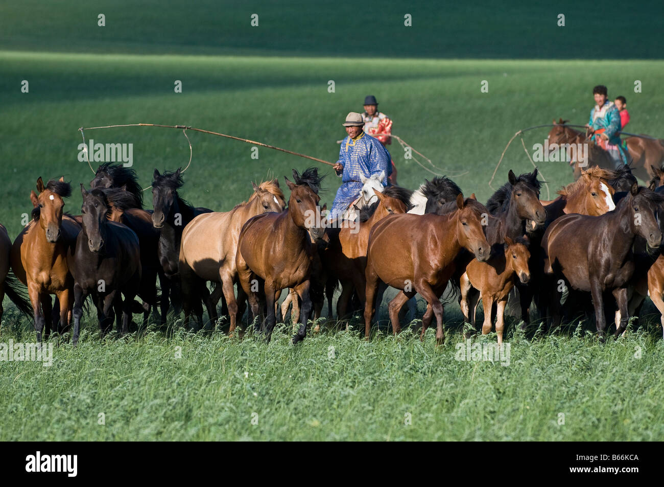
M 378 197 L 371 211 L 361 210 L 355 222 L 343 221 L 341 229 L 327 229 L 330 244 L 324 252 L 323 262 L 328 273 L 341 281 L 341 296 L 337 300 L 337 318 L 346 316 L 353 289 L 361 302 L 365 300 L 365 268 L 367 245 L 373 226 L 387 215 L 406 213 L 406 203 L 400 199 L 373 190 Z

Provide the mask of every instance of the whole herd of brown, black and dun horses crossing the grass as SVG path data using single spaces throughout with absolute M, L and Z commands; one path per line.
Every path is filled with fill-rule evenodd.
M 561 128 L 554 126 L 550 140 Z M 184 326 L 195 319 L 197 328 L 205 324 L 205 307 L 212 324 L 228 316 L 230 334 L 248 311 L 248 322 L 269 339 L 292 306 L 297 343 L 326 298 L 333 317 L 339 286 L 337 320 L 363 312 L 367 338 L 388 286 L 398 290 L 388 304 L 393 332 L 400 331 L 404 305 L 413 311 L 420 294 L 427 303 L 422 338 L 436 318 L 438 343 L 449 296 L 473 327 L 481 300 L 481 332 L 495 322 L 499 343 L 514 296 L 524 328 L 534 303 L 545 330 L 594 312 L 604 340 L 607 317 L 618 336 L 645 296 L 664 324 L 661 166 L 648 171 L 651 181 L 643 187 L 627 165 L 589 165 L 551 201 L 540 199 L 537 176 L 537 169 L 519 176 L 509 171 L 483 205 L 447 177 L 410 191 L 382 187 L 382 175 L 374 175 L 363 178 L 347 218 L 335 222 L 320 206 L 322 177 L 315 168 L 293 169 L 293 181 L 284 178 L 288 201 L 273 179 L 252 183 L 250 198 L 226 212 L 182 199 L 180 169 L 155 169 L 153 210 L 147 210 L 135 171 L 104 163 L 89 188 L 80 185 L 80 215 L 64 212 L 69 183 L 44 184 L 40 177 L 30 194 L 33 218 L 13 244 L 0 227 L 0 298 L 6 291 L 34 319 L 38 341 L 51 331 L 68 332 L 73 323 L 74 345 L 88 297 L 102 336 L 114 322 L 126 334 L 134 313 L 143 314 L 145 326 L 151 312 L 162 325 L 169 311 L 183 312 Z M 27 298 L 17 280 L 27 286 Z

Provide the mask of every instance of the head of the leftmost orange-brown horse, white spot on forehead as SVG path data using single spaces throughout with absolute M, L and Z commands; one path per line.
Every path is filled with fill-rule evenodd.
M 39 225 L 46 233 L 46 241 L 56 243 L 62 232 L 62 213 L 64 208 L 63 198 L 70 197 L 72 187 L 64 182 L 64 177 L 57 181 L 51 179 L 44 186 L 41 177 L 37 179 L 37 191 L 30 192 L 30 199 L 33 203 L 33 218 L 39 220 Z

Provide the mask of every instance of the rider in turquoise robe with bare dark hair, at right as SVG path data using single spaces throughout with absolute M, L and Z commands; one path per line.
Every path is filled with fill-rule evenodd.
M 627 163 L 620 140 L 620 112 L 614 102 L 608 100 L 606 86 L 598 84 L 592 89 L 596 106 L 590 110 L 590 120 L 586 127 L 592 133 L 595 144 L 606 150 L 614 159 L 616 169 Z

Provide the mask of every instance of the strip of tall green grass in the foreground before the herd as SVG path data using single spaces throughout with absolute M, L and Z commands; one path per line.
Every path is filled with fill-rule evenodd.
M 604 345 L 517 334 L 503 366 L 457 361 L 459 333 L 438 348 L 433 330 L 424 343 L 410 332 L 370 342 L 322 332 L 293 347 L 285 331 L 269 345 L 182 333 L 100 343 L 94 332 L 78 349 L 54 347 L 51 367 L 0 362 L 0 440 L 664 437 L 664 342 L 651 332 Z M 3 341 L 11 336 L 33 340 L 9 332 Z

